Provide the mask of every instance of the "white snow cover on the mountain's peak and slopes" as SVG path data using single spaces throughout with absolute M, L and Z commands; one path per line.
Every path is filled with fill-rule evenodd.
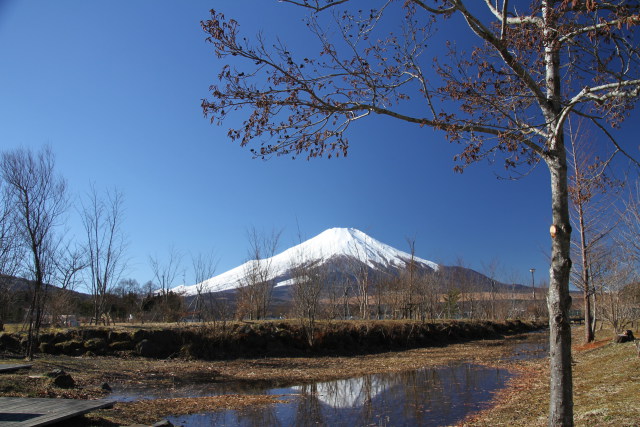
M 295 263 L 300 261 L 320 260 L 323 263 L 336 256 L 353 257 L 373 268 L 379 266 L 402 268 L 406 265 L 406 261 L 411 259 L 410 254 L 385 245 L 355 228 L 331 228 L 260 262 L 269 265 L 269 270 L 271 271 L 270 279 L 273 279 L 285 275 Z M 219 292 L 237 288 L 255 262 L 255 260 L 248 261 L 234 269 L 205 280 L 202 282 L 202 292 Z M 415 257 L 414 262 L 424 264 L 433 270 L 438 269 L 438 264 L 422 258 Z M 286 284 L 288 283 L 278 283 L 280 286 Z M 184 295 L 195 295 L 199 285 L 181 285 L 172 290 Z

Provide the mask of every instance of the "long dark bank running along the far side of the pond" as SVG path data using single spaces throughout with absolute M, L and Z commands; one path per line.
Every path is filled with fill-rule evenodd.
M 247 357 L 353 356 L 495 339 L 529 332 L 543 322 L 332 321 L 318 322 L 313 339 L 299 321 L 207 323 L 182 327 L 82 327 L 45 331 L 40 353 L 223 360 Z M 20 353 L 22 333 L 0 334 L 0 350 Z

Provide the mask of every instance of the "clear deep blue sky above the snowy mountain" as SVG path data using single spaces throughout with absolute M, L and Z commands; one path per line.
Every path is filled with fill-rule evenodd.
M 486 163 L 455 174 L 459 146 L 384 118 L 353 128 L 346 159 L 263 162 L 230 142 L 232 124 L 211 125 L 200 108 L 222 66 L 199 25 L 211 8 L 247 35 L 305 49 L 300 9 L 276 1 L 0 0 L 0 149 L 49 144 L 76 199 L 92 182 L 124 192 L 127 277 L 151 279 L 149 255 L 171 245 L 185 266 L 214 249 L 221 273 L 246 260 L 247 228 L 282 229 L 285 249 L 296 224 L 305 238 L 355 227 L 403 250 L 415 237 L 418 256 L 479 271 L 495 258 L 504 280 L 529 283 L 531 267 L 536 281 L 548 275 L 542 165 L 516 182 Z M 637 135 L 637 122 L 619 137 Z

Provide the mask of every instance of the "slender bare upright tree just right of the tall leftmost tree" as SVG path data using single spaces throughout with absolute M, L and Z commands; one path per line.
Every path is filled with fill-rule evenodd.
M 86 203 L 82 204 L 86 263 L 96 325 L 107 314 L 107 294 L 127 266 L 127 245 L 122 231 L 123 203 L 121 192 L 107 192 L 106 198 L 102 199 L 92 186 Z M 109 322 L 108 316 L 106 321 Z

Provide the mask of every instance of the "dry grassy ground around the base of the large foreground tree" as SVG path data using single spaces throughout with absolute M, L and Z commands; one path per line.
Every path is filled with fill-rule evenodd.
M 574 329 L 574 419 L 577 426 L 640 425 L 640 358 L 633 343 L 614 344 L 611 331 L 581 345 Z M 469 426 L 544 426 L 549 408 L 549 369 L 544 361 L 526 362 L 491 409 L 468 419 Z

